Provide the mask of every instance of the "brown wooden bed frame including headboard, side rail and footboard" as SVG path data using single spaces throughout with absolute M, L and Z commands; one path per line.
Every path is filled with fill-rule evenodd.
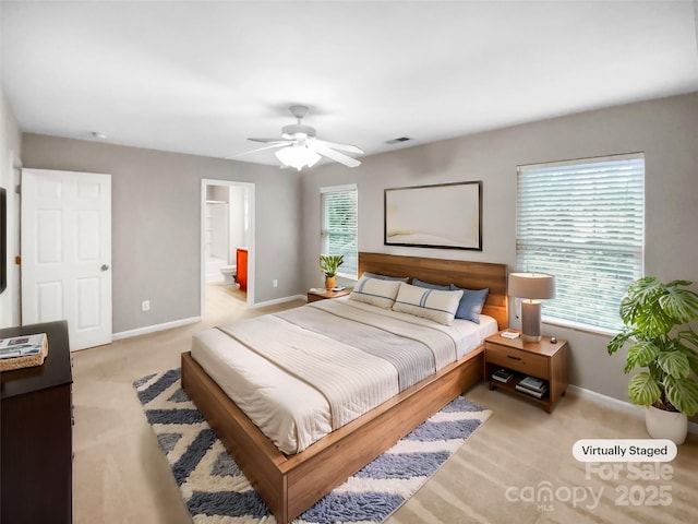
M 359 274 L 410 276 L 469 289 L 490 288 L 483 313 L 508 326 L 503 264 L 359 253 Z M 482 380 L 483 347 L 442 369 L 294 455 L 281 453 L 191 357 L 182 354 L 182 386 L 256 492 L 286 524 L 422 421 Z

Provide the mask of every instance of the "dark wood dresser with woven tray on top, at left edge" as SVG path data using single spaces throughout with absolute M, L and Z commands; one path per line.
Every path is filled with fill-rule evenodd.
M 46 333 L 41 366 L 0 373 L 0 522 L 72 522 L 72 401 L 64 321 L 0 330 L 0 338 Z

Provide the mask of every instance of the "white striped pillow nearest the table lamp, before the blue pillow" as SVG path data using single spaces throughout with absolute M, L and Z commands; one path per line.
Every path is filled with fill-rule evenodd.
M 462 290 L 445 291 L 401 283 L 393 310 L 448 325 L 456 317 L 461 297 Z

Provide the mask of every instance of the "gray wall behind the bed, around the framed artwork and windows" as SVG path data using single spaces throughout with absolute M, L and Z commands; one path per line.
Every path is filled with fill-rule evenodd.
M 633 152 L 646 155 L 646 274 L 698 282 L 698 94 L 690 94 L 375 155 L 356 169 L 309 171 L 303 178 L 305 285 L 322 279 L 316 263 L 321 187 L 358 184 L 360 250 L 500 262 L 513 271 L 517 165 Z M 383 245 L 385 188 L 467 180 L 483 181 L 482 252 Z M 514 317 L 512 325 L 517 326 Z M 569 341 L 573 384 L 627 401 L 624 356 L 607 356 L 610 336 L 555 325 L 544 325 L 543 332 Z

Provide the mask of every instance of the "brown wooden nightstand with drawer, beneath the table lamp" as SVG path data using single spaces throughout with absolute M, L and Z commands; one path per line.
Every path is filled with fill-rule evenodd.
M 510 330 L 509 330 L 510 331 Z M 524 342 L 521 337 L 505 338 L 497 333 L 484 340 L 484 380 L 491 390 L 501 389 L 553 410 L 567 390 L 567 341 Z M 514 377 L 506 383 L 492 378 L 497 369 L 505 368 Z M 525 377 L 534 377 L 547 383 L 547 391 L 537 398 L 516 389 Z

